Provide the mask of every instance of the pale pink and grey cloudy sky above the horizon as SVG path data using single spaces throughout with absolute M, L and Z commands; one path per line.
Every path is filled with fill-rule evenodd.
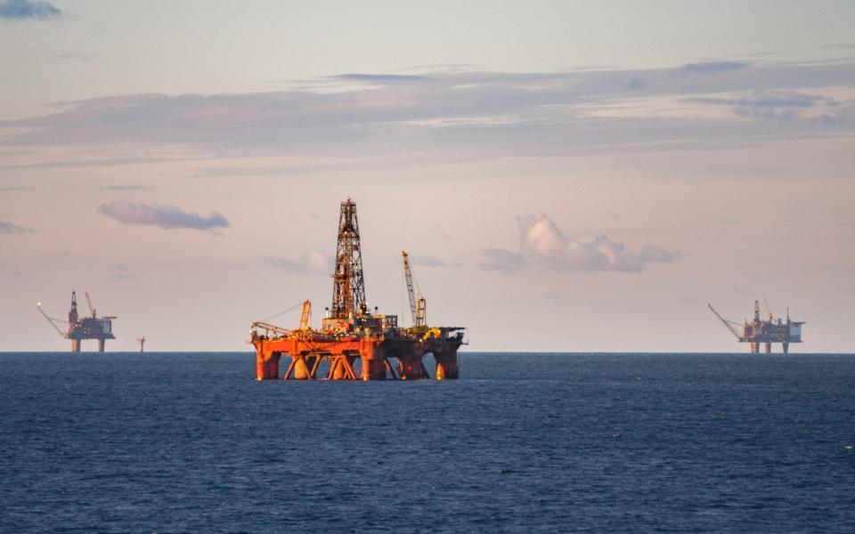
M 410 323 L 406 250 L 468 351 L 746 352 L 706 304 L 765 296 L 853 352 L 853 36 L 851 2 L 0 0 L 0 351 L 68 350 L 35 304 L 72 290 L 110 351 L 320 323 L 352 198 L 370 305 Z

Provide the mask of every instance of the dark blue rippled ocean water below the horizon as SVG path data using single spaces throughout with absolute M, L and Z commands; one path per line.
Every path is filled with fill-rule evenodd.
M 853 532 L 855 356 L 0 354 L 0 532 Z

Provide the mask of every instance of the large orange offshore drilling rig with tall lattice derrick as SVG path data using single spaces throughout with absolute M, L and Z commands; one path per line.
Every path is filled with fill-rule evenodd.
M 457 378 L 457 351 L 462 327 L 428 327 L 425 299 L 416 295 L 409 258 L 403 269 L 410 296 L 413 326 L 398 327 L 395 315 L 369 312 L 362 277 L 362 249 L 356 204 L 341 203 L 338 217 L 336 269 L 332 274 L 332 307 L 320 330 L 312 328 L 312 303 L 303 303 L 296 330 L 252 323 L 250 343 L 256 347 L 256 379 L 279 378 L 281 357 L 289 358 L 285 380 L 412 380 L 429 378 L 423 358 L 433 354 L 436 379 Z

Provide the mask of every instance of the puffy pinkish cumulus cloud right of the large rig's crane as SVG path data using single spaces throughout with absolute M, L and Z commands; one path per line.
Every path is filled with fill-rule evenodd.
M 515 272 L 525 266 L 550 272 L 644 271 L 648 263 L 672 262 L 680 253 L 656 245 L 633 254 L 623 243 L 600 235 L 590 242 L 567 239 L 546 214 L 519 215 L 519 252 L 504 248 L 481 251 L 481 267 L 488 271 Z

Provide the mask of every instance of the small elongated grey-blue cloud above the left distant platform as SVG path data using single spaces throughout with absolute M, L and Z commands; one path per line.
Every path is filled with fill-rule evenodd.
M 209 230 L 230 226 L 221 214 L 211 213 L 208 217 L 203 217 L 199 214 L 185 213 L 175 206 L 143 204 L 125 199 L 110 202 L 110 204 L 102 204 L 98 211 L 119 223 L 153 225 L 167 229 Z

